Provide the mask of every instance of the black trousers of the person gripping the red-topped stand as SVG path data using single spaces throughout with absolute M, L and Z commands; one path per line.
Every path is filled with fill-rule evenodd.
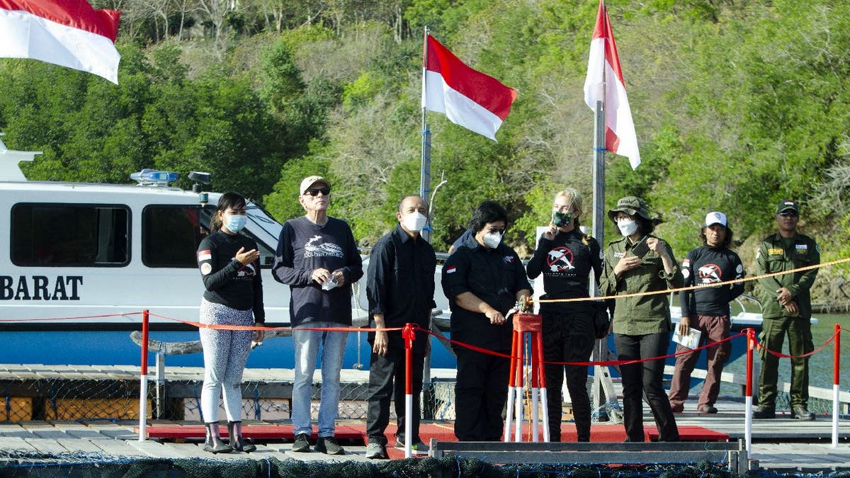
M 455 436 L 459 441 L 499 441 L 511 362 L 460 347 L 455 352 Z

